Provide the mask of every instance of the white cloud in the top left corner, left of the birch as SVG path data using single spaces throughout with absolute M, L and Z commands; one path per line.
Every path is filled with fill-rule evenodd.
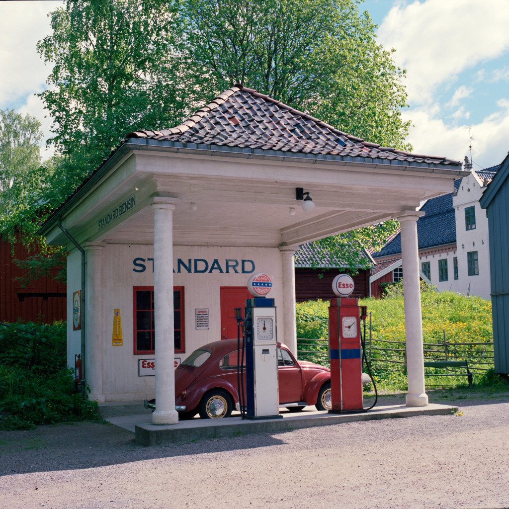
M 45 88 L 51 68 L 37 53 L 37 42 L 51 32 L 47 13 L 63 2 L 0 2 L 0 108 L 19 104 Z

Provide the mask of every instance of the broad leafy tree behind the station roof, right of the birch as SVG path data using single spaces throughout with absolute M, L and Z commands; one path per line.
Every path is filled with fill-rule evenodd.
M 184 0 L 194 88 L 234 82 L 382 146 L 404 143 L 406 92 L 360 0 Z

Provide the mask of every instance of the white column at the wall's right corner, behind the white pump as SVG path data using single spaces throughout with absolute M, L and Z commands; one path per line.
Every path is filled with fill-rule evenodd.
M 297 323 L 295 319 L 295 249 L 280 247 L 283 276 L 282 318 L 285 337 L 279 338 L 297 357 Z

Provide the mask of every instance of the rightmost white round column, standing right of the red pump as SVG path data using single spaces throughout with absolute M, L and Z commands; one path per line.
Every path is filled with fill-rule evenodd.
M 422 314 L 420 309 L 419 250 L 417 220 L 424 212 L 406 210 L 398 217 L 401 223 L 401 256 L 403 261 L 403 294 L 407 343 L 408 407 L 425 407 L 428 395 L 424 383 L 422 350 Z

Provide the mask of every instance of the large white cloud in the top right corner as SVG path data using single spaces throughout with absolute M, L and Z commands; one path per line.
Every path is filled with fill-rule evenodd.
M 394 47 L 407 69 L 412 105 L 432 102 L 437 87 L 509 48 L 507 0 L 426 0 L 399 3 L 384 18 L 378 40 Z

